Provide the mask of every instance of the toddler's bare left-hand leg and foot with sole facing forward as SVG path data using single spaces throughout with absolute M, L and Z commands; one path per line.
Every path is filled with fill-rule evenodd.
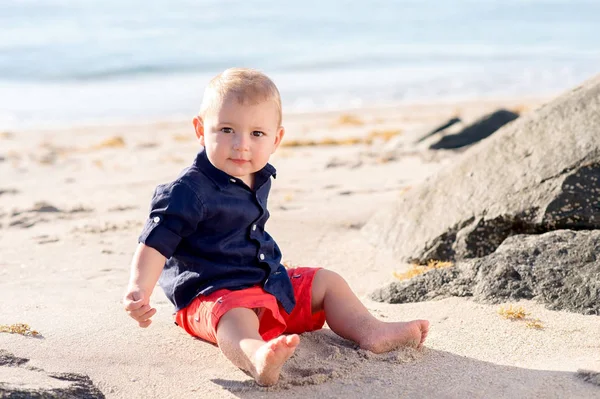
M 281 367 L 299 343 L 296 334 L 263 341 L 258 334 L 258 317 L 251 309 L 232 309 L 217 326 L 217 344 L 223 354 L 260 385 L 273 385 L 279 380 Z

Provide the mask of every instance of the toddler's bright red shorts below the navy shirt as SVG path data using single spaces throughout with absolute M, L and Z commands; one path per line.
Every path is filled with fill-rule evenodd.
M 312 313 L 312 282 L 319 268 L 288 269 L 294 288 L 296 306 L 287 314 L 275 297 L 262 287 L 243 290 L 217 290 L 207 296 L 198 295 L 175 315 L 175 322 L 188 334 L 217 343 L 219 319 L 234 308 L 256 309 L 258 332 L 265 341 L 281 334 L 300 334 L 319 330 L 325 324 L 325 312 Z

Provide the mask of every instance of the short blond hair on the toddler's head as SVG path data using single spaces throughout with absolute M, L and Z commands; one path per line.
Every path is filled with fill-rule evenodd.
M 204 118 L 230 96 L 242 105 L 274 101 L 278 125 L 281 125 L 281 96 L 275 83 L 264 73 L 250 68 L 229 68 L 212 78 L 204 90 L 200 116 Z

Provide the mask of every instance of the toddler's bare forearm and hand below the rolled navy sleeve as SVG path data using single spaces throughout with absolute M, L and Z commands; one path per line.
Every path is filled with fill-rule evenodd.
M 125 311 L 140 327 L 148 327 L 156 309 L 150 306 L 150 295 L 160 277 L 166 258 L 152 247 L 140 243 L 131 261 L 131 276 L 123 299 Z

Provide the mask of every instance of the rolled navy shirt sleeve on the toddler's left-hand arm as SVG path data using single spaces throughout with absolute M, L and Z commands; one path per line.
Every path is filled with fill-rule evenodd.
M 150 204 L 150 216 L 138 241 L 156 249 L 167 259 L 181 240 L 191 235 L 204 217 L 198 195 L 186 184 L 159 185 Z

